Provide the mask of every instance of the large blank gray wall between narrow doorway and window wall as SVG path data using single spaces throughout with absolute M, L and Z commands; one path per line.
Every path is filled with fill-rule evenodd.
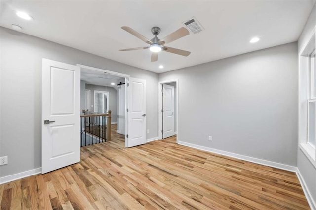
M 179 141 L 296 166 L 297 66 L 294 42 L 159 74 L 179 79 Z

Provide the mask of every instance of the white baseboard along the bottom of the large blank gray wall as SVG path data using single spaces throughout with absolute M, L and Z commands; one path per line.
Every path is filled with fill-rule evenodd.
M 282 163 L 276 163 L 276 162 L 263 160 L 263 159 L 259 159 L 259 158 L 253 158 L 253 157 L 249 157 L 249 156 L 245 156 L 245 155 L 239 155 L 239 154 L 236 154 L 236 153 L 226 152 L 226 151 L 222 151 L 222 150 L 219 150 L 219 149 L 213 149 L 213 148 L 209 148 L 209 147 L 206 147 L 206 146 L 199 146 L 199 145 L 196 145 L 196 144 L 187 143 L 187 142 L 183 142 L 183 141 L 178 141 L 178 144 L 183 145 L 183 146 L 192 147 L 192 148 L 195 148 L 195 149 L 200 149 L 200 150 L 207 151 L 207 152 L 213 152 L 213 153 L 216 153 L 216 154 L 237 158 L 237 159 L 240 159 L 240 160 L 245 160 L 245 161 L 248 161 L 248 162 L 251 162 L 251 163 L 257 163 L 257 164 L 264 165 L 264 166 L 270 166 L 270 167 L 274 167 L 274 168 L 277 168 L 277 169 L 283 169 L 283 170 L 286 170 L 286 171 L 296 172 L 296 169 L 297 169 L 297 167 L 295 167 L 295 166 L 285 165 L 285 164 L 282 164 Z

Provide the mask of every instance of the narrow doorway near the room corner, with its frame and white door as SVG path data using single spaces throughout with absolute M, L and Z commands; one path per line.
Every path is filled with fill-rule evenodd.
M 176 135 L 178 142 L 178 79 L 162 81 L 159 87 L 159 139 Z

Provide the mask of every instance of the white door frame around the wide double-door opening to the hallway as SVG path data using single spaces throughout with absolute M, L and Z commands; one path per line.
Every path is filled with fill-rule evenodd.
M 89 67 L 89 66 L 85 66 L 82 64 L 77 64 L 76 66 L 80 67 L 80 69 L 92 70 L 92 71 L 96 71 L 96 72 L 102 72 L 102 73 L 107 73 L 107 74 L 111 74 L 114 76 L 123 77 L 123 78 L 125 78 L 126 84 L 128 83 L 128 79 L 130 77 L 128 74 L 118 73 L 118 72 L 110 71 L 110 70 L 103 70 L 103 69 L 99 69 L 99 68 L 95 68 L 95 67 Z M 127 94 L 127 91 L 128 91 L 127 85 L 125 85 L 125 142 L 127 141 L 126 134 L 127 134 L 127 128 L 128 128 L 128 112 L 127 112 L 128 94 Z

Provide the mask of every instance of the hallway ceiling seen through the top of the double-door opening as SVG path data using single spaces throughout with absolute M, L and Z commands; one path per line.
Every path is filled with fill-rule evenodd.
M 86 81 L 86 84 L 109 86 L 116 89 L 118 79 L 122 79 L 122 77 L 81 68 L 81 80 Z M 112 82 L 115 85 L 111 85 Z

